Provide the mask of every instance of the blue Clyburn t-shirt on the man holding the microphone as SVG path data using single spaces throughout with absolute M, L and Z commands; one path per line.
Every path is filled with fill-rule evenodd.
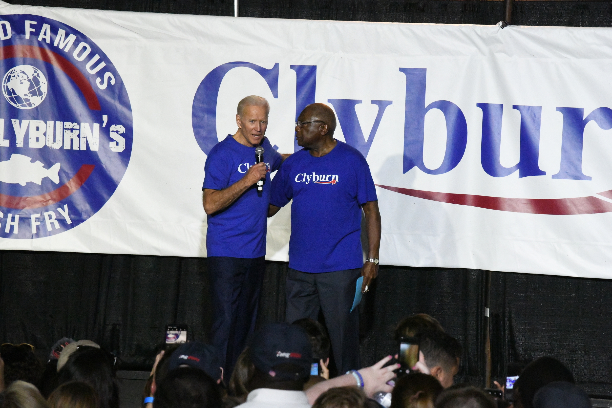
M 272 188 L 270 172 L 276 171 L 282 157 L 267 138 L 264 162 L 267 165 L 266 182 L 258 196 L 253 184 L 236 201 L 223 210 L 208 215 L 206 252 L 208 256 L 232 256 L 233 258 L 259 258 L 266 254 L 267 210 Z M 255 147 L 238 143 L 232 135 L 215 144 L 204 165 L 202 188 L 223 190 L 242 179 L 250 166 L 255 165 Z

